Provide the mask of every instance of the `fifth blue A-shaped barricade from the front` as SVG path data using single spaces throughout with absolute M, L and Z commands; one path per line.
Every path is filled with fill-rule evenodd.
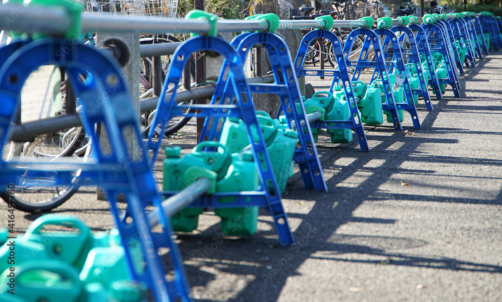
M 357 61 L 350 61 L 349 56 L 352 52 L 352 46 L 354 44 L 355 38 L 357 36 L 364 36 L 364 43 L 362 44 L 361 52 Z M 370 47 L 373 47 L 375 60 L 368 61 L 368 51 Z M 384 94 L 386 97 L 386 102 L 382 104 L 383 110 L 389 111 L 392 118 L 392 123 L 394 129 L 402 130 L 401 120 L 398 116 L 398 107 L 394 94 L 391 92 L 391 84 L 389 83 L 389 77 L 384 77 L 387 72 L 387 67 L 385 66 L 385 59 L 382 52 L 382 45 L 380 44 L 380 37 L 376 35 L 370 29 L 367 28 L 357 28 L 351 31 L 347 39 L 345 40 L 345 45 L 343 47 L 343 56 L 347 62 L 347 66 L 354 67 L 354 73 L 352 74 L 352 81 L 358 80 L 363 68 L 373 68 L 373 75 L 370 80 L 370 84 L 376 80 L 379 76 L 382 79 L 382 84 L 384 85 Z

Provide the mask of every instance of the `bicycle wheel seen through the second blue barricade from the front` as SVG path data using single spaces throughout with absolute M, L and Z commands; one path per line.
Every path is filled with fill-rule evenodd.
M 170 36 L 170 35 L 148 35 L 144 36 L 140 39 L 141 44 L 156 44 L 156 43 L 172 43 L 172 42 L 181 42 L 179 39 Z M 166 73 L 169 69 L 169 65 L 171 64 L 171 55 L 165 55 L 161 56 L 161 61 L 162 61 L 162 80 L 164 81 L 166 77 Z M 140 78 L 144 80 L 140 80 L 141 85 L 140 85 L 140 91 L 143 90 L 142 96 L 148 96 L 148 91 L 153 92 L 152 88 L 152 83 L 153 83 L 153 68 L 152 68 L 152 60 L 150 58 L 142 58 L 141 60 L 141 74 Z M 193 57 L 190 58 L 187 66 L 185 68 L 189 68 L 190 70 L 190 79 L 188 83 L 190 86 L 193 86 L 195 83 L 195 59 Z M 182 87 L 182 84 L 180 83 L 180 87 Z M 166 92 L 170 92 L 174 87 L 168 87 Z M 182 88 L 179 88 L 182 89 Z M 192 105 L 193 100 L 190 100 L 190 102 L 183 102 L 180 103 L 184 105 Z M 181 117 L 173 117 L 170 121 L 169 124 L 166 127 L 166 130 L 164 131 L 164 137 L 167 137 L 169 135 L 172 135 L 176 132 L 178 132 L 183 126 L 185 126 L 188 121 L 190 121 L 190 117 L 187 117 L 188 113 L 193 113 L 191 110 L 186 110 L 185 115 Z M 142 114 L 141 117 L 141 126 L 143 127 L 142 133 L 146 133 L 149 131 L 150 124 L 149 122 L 151 119 L 148 117 L 151 115 L 151 112 L 144 113 Z M 160 136 L 160 129 L 156 131 L 157 136 Z

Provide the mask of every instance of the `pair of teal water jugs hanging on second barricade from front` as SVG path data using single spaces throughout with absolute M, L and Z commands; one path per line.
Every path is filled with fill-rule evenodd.
M 211 148 L 208 150 L 206 148 Z M 198 144 L 191 154 L 180 157 L 177 147 L 166 148 L 164 159 L 164 190 L 179 191 L 206 177 L 214 183 L 212 192 L 254 191 L 260 182 L 253 155 L 249 152 L 231 154 L 221 143 L 206 141 Z M 218 202 L 232 202 L 235 197 L 221 197 Z M 216 209 L 221 217 L 225 235 L 253 235 L 256 231 L 258 208 Z M 198 216 L 203 209 L 185 208 L 171 217 L 173 228 L 178 232 L 192 232 L 197 228 Z M 234 222 L 239 222 L 235 224 Z

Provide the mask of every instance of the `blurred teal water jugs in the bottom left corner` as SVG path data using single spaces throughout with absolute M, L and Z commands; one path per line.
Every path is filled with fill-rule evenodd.
M 49 226 L 70 227 L 75 231 L 44 231 Z M 139 242 L 128 246 L 137 260 L 135 269 L 142 271 Z M 15 258 L 8 262 L 12 247 Z M 147 299 L 147 287 L 127 277 L 118 231 L 92 234 L 85 224 L 71 216 L 40 217 L 24 235 L 7 239 L 0 248 L 0 259 L 3 259 L 0 261 L 2 301 L 143 302 Z M 6 294 L 8 291 L 14 295 Z

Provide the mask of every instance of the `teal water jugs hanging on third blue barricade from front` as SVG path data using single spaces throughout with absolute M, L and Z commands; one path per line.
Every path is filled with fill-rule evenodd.
M 279 190 L 282 193 L 286 190 L 288 178 L 291 176 L 298 132 L 288 129 L 284 119 L 282 119 L 284 121 L 281 123 L 277 119 L 272 119 L 263 111 L 257 112 L 257 119 L 267 145 Z M 258 137 L 255 137 L 258 140 Z M 228 119 L 221 130 L 220 143 L 227 146 L 231 153 L 240 152 L 249 145 L 247 128 L 244 122 L 240 119 Z M 269 188 L 272 189 L 271 186 Z

